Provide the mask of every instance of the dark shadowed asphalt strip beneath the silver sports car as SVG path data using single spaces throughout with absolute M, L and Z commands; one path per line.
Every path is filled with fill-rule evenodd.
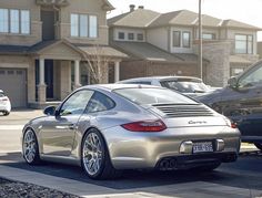
M 20 153 L 8 153 L 0 155 L 0 164 L 28 170 L 31 173 L 41 173 L 48 176 L 56 176 L 64 179 L 82 181 L 87 184 L 107 187 L 114 190 L 130 191 L 137 188 L 161 187 L 167 185 L 175 186 L 182 184 L 208 183 L 212 185 L 223 186 L 222 191 L 218 192 L 208 189 L 198 189 L 187 191 L 187 195 L 194 195 L 195 190 L 209 195 L 208 197 L 229 197 L 229 188 L 241 188 L 249 190 L 249 195 L 243 197 L 262 197 L 262 154 L 256 152 L 243 153 L 236 163 L 223 164 L 212 173 L 195 173 L 195 171 L 125 171 L 123 177 L 118 180 L 97 181 L 89 179 L 81 168 L 61 164 L 46 163 L 40 166 L 29 166 L 24 163 Z M 223 190 L 224 189 L 224 190 Z M 206 190 L 206 191 L 203 191 Z M 184 191 L 178 191 L 184 194 Z M 234 192 L 232 191 L 234 195 Z M 182 196 L 183 197 L 183 196 Z M 185 196 L 187 197 L 187 196 Z M 234 196 L 233 196 L 234 197 Z M 236 197 L 236 196 L 235 196 Z M 238 196 L 239 197 L 239 196 Z

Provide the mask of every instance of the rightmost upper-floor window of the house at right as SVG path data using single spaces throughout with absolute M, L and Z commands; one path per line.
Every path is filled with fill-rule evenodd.
M 253 35 L 235 35 L 235 53 L 252 54 L 253 53 Z

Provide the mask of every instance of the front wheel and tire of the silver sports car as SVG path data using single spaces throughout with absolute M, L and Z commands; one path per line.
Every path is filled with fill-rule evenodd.
M 31 128 L 28 128 L 23 134 L 22 155 L 29 165 L 39 165 L 41 163 L 38 139 Z

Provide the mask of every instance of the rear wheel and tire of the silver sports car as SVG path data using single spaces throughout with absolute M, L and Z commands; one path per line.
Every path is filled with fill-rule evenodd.
M 113 179 L 121 176 L 111 163 L 109 150 L 101 133 L 91 128 L 83 137 L 81 164 L 84 173 L 92 179 Z

